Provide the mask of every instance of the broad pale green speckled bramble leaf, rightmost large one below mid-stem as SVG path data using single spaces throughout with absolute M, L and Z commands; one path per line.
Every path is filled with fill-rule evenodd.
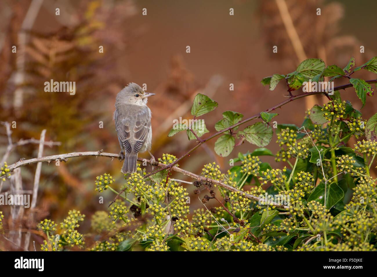
M 247 126 L 242 133 L 244 133 L 248 142 L 259 147 L 269 144 L 273 135 L 271 126 L 264 122 L 257 122 L 251 126 Z

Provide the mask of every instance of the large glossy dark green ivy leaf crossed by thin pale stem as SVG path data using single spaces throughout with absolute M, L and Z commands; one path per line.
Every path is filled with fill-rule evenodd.
M 322 197 L 321 197 L 322 196 Z M 326 186 L 326 208 L 331 209 L 340 199 L 344 196 L 343 190 L 333 182 L 331 184 L 327 184 Z M 325 184 L 320 183 L 314 189 L 313 193 L 310 194 L 308 198 L 308 202 L 316 200 L 320 204 L 324 204 L 325 202 Z

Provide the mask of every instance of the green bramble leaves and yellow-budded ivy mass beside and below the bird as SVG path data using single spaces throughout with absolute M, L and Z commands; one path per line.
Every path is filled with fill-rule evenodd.
M 372 70 L 374 62 L 372 59 L 360 69 Z M 308 59 L 284 78 L 288 90 L 292 90 L 310 78 L 349 76 L 354 66 L 354 58 L 343 70 L 336 65 L 325 68 L 322 60 Z M 283 75 L 274 76 L 264 78 L 262 83 L 276 87 Z M 365 86 L 362 79 L 349 80 Z M 356 93 L 364 99 L 367 88 L 364 95 L 357 86 Z M 198 94 L 192 115 L 195 119 L 217 106 L 215 101 Z M 169 178 L 169 169 L 144 178 L 146 170 L 138 167 L 135 173 L 125 176 L 121 200 L 116 200 L 108 213 L 98 211 L 92 217 L 94 234 L 82 236 L 75 230 L 83 216 L 73 211 L 61 223 L 63 233 L 58 244 L 51 238 L 54 222 L 41 222 L 40 230 L 49 239 L 42 248 L 83 246 L 84 237 L 92 236 L 96 239 L 88 249 L 95 251 L 375 250 L 377 189 L 369 169 L 375 165 L 377 154 L 377 114 L 366 122 L 336 92 L 323 107 L 314 106 L 308 111 L 301 127 L 279 124 L 273 128 L 268 122 L 276 115 L 262 112 L 263 121 L 240 131 L 241 113 L 222 114 L 214 127 L 216 135 L 220 135 L 215 142 L 218 155 L 229 156 L 240 144 L 235 143 L 236 138 L 261 148 L 239 153 L 231 159 L 237 164 L 232 164 L 226 173 L 215 162 L 204 165 L 203 178 L 192 184 L 203 207 L 194 211 L 191 219 L 187 188 Z M 264 148 L 274 129 L 280 147 L 275 155 Z M 198 129 L 194 132 L 199 136 Z M 169 135 L 175 133 L 172 130 Z M 366 139 L 353 148 L 345 147 L 351 136 L 364 135 Z M 274 168 L 262 160 L 264 156 L 275 156 L 285 166 Z M 176 157 L 164 154 L 159 161 L 172 165 Z M 95 189 L 102 193 L 108 188 L 118 193 L 112 188 L 115 182 L 110 181 L 114 180 L 107 174 L 98 176 Z M 101 233 L 107 235 L 98 236 Z

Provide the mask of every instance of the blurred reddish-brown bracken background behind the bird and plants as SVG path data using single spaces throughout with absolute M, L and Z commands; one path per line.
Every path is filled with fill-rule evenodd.
M 56 8 L 60 15 L 55 15 Z M 147 15 L 142 15 L 143 8 Z M 234 9 L 232 16 L 230 8 Z M 317 8 L 321 15 L 316 15 Z M 179 157 L 195 142 L 189 142 L 185 132 L 172 138 L 167 134 L 172 119 L 191 118 L 192 99 L 198 92 L 219 103 L 218 109 L 202 117 L 211 133 L 225 110 L 241 112 L 245 118 L 266 110 L 286 99 L 287 92 L 283 82 L 269 91 L 260 83 L 263 77 L 293 72 L 305 58 L 322 58 L 326 65 L 344 67 L 351 56 L 357 66 L 374 57 L 376 8 L 375 1 L 356 5 L 351 0 L 2 0 L 0 120 L 17 122 L 17 128 L 12 129 L 14 143 L 39 139 L 43 129 L 47 130 L 46 141 L 61 142 L 51 148 L 45 145 L 43 156 L 100 149 L 118 153 L 112 121 L 115 96 L 129 82 L 145 83 L 147 92 L 156 93 L 149 99 L 152 153 L 156 159 L 162 153 Z M 285 24 L 290 20 L 293 29 Z M 290 37 L 295 32 L 299 40 Z M 190 53 L 186 53 L 187 45 Z M 275 45 L 278 53 L 272 52 Z M 360 53 L 361 45 L 365 53 Z M 12 46 L 17 47 L 17 53 L 12 53 Z M 98 51 L 100 46 L 103 53 Z M 354 76 L 375 79 L 371 72 L 362 70 Z M 51 79 L 75 81 L 76 94 L 44 92 L 44 82 Z M 230 83 L 234 91 L 229 90 Z M 335 85 L 344 83 L 338 79 Z M 341 93 L 360 109 L 361 101 L 352 88 Z M 362 109 L 366 119 L 377 111 L 374 99 L 367 100 Z M 323 103 L 326 98 L 320 96 L 296 100 L 277 110 L 279 116 L 274 120 L 300 125 L 307 107 Z M 1 127 L 0 153 L 4 153 L 8 138 Z M 199 174 L 204 164 L 216 161 L 226 172 L 230 158 L 257 148 L 245 143 L 230 156 L 220 158 L 213 150 L 215 141 L 200 147 L 180 166 Z M 276 137 L 268 148 L 276 153 L 274 141 Z M 18 146 L 6 161 L 12 164 L 22 157 L 35 158 L 37 153 L 38 144 Z M 139 156 L 149 158 L 146 153 Z M 282 166 L 271 157 L 264 161 L 275 168 Z M 21 168 L 24 190 L 32 190 L 36 166 Z M 102 157 L 72 158 L 58 167 L 54 162 L 43 163 L 35 220 L 47 217 L 60 222 L 75 208 L 87 216 L 81 233 L 90 230 L 91 214 L 107 210 L 114 197 L 106 191 L 102 194 L 104 204 L 98 204 L 95 177 L 112 174 L 118 189 L 123 185 L 120 168 L 119 161 Z M 174 177 L 185 179 L 177 173 Z M 2 191 L 8 191 L 9 184 L 5 182 Z M 202 208 L 200 202 L 191 205 L 192 210 L 196 208 Z M 9 207 L 0 210 L 8 214 Z M 28 222 L 29 212 L 25 210 L 17 224 L 34 229 L 35 222 Z M 4 219 L 6 232 L 15 226 L 12 220 L 9 215 Z M 31 236 L 37 243 L 42 240 Z

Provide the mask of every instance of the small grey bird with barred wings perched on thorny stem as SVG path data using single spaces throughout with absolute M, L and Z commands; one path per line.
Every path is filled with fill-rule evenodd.
M 132 173 L 137 169 L 138 153 L 149 152 L 152 145 L 152 118 L 147 106 L 148 97 L 155 93 L 146 93 L 138 84 L 129 83 L 116 95 L 115 129 L 121 147 L 120 160 L 124 159 L 122 173 Z

